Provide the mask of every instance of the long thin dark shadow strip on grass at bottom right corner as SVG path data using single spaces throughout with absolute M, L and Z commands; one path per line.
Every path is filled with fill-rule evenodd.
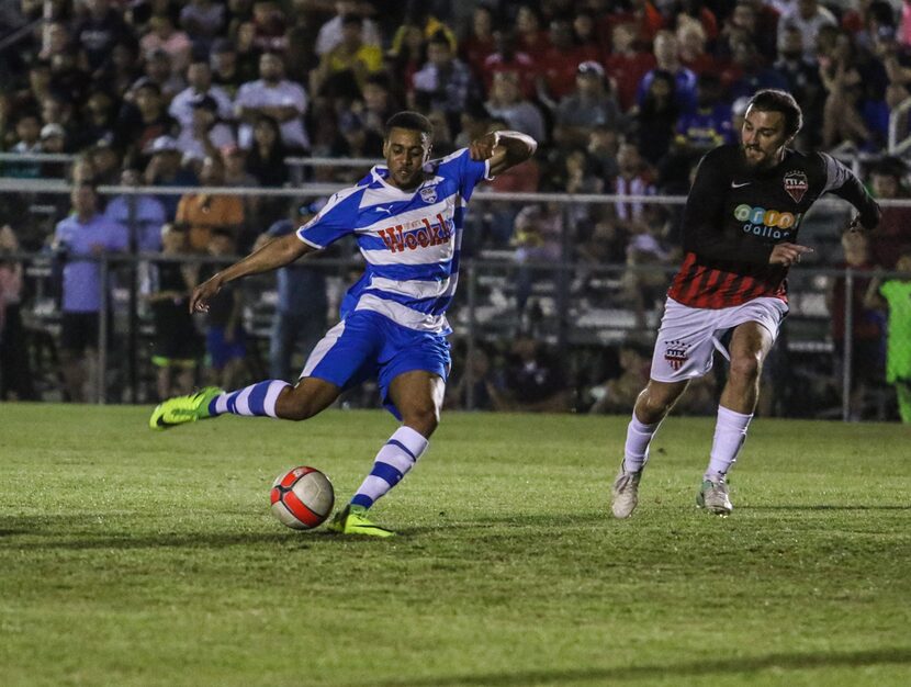
M 709 677 L 723 674 L 744 674 L 758 671 L 800 671 L 819 668 L 859 668 L 875 665 L 911 665 L 911 649 L 895 647 L 877 651 L 839 652 L 826 654 L 772 654 L 698 663 L 637 665 L 617 668 L 578 671 L 527 671 L 519 673 L 487 673 L 462 677 L 434 677 L 372 683 L 378 687 L 458 687 L 459 685 L 563 685 L 566 683 L 609 684 L 611 680 L 667 679 L 668 677 Z

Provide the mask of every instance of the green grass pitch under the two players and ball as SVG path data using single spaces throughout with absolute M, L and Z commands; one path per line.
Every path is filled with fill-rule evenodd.
M 395 428 L 0 405 L 0 683 L 907 685 L 907 427 L 760 419 L 734 515 L 696 509 L 709 419 L 671 418 L 609 517 L 626 418 L 448 414 L 373 509 L 269 513 L 313 464 L 347 502 Z

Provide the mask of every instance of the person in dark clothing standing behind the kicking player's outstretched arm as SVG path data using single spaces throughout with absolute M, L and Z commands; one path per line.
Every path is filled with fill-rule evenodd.
M 289 217 L 280 219 L 254 244 L 259 250 L 305 225 L 326 204 L 325 199 L 295 202 Z M 269 339 L 269 374 L 275 380 L 291 380 L 291 358 L 301 351 L 304 359 L 326 330 L 328 295 L 327 271 L 319 266 L 295 262 L 275 272 L 278 301 Z

